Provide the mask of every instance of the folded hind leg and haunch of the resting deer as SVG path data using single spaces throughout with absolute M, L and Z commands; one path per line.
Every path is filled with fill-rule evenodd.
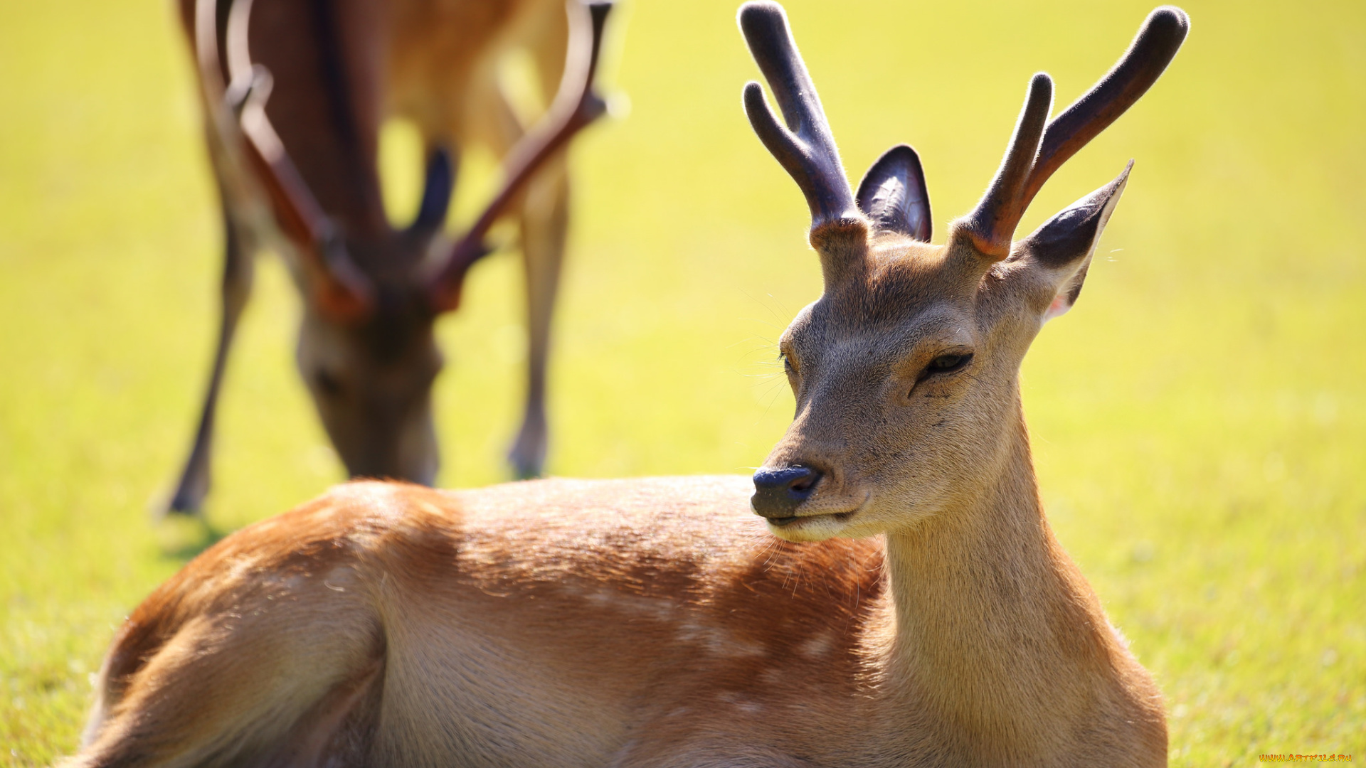
M 236 594 L 242 615 L 197 614 L 163 640 L 116 638 L 111 655 L 128 668 L 111 686 L 109 676 L 124 670 L 107 661 L 86 743 L 61 768 L 370 764 L 365 752 L 380 713 L 384 640 L 358 593 L 326 586 L 350 584 L 346 573 L 292 575 L 303 582 L 292 590 Z

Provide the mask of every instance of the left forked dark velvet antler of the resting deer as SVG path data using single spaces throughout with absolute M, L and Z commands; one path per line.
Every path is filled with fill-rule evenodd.
M 759 141 L 802 189 L 811 209 L 811 228 L 832 220 L 858 219 L 854 191 L 844 175 L 831 126 L 792 41 L 783 7 L 770 1 L 746 3 L 740 5 L 739 22 L 787 128 L 773 116 L 764 100 L 764 87 L 757 82 L 744 86 L 744 112 Z

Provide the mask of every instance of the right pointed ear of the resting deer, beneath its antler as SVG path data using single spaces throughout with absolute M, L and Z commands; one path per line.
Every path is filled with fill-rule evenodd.
M 1130 160 L 1119 178 L 1074 202 L 1020 242 L 1030 264 L 1052 277 L 1053 301 L 1044 312 L 1044 320 L 1052 320 L 1076 303 L 1096 243 L 1124 193 L 1132 167 Z

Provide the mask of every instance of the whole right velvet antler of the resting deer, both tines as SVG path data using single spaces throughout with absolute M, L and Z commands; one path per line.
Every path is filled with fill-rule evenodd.
M 1034 75 L 996 178 L 977 208 L 960 221 L 960 231 L 977 250 L 996 260 L 1009 256 L 1015 227 L 1044 182 L 1157 82 L 1188 30 L 1190 19 L 1180 8 L 1154 10 L 1115 68 L 1046 128 L 1053 83 L 1045 74 Z

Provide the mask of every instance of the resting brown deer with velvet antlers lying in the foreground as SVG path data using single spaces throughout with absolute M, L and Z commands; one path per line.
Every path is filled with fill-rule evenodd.
M 1161 75 L 1153 11 L 930 242 L 919 159 L 856 191 L 780 5 L 740 7 L 744 109 L 824 291 L 779 347 L 795 418 L 753 474 L 355 481 L 219 541 L 117 630 L 67 765 L 1167 764 L 1161 693 L 1049 527 L 1019 368 L 1078 298 L 1130 167 L 1014 239 Z

